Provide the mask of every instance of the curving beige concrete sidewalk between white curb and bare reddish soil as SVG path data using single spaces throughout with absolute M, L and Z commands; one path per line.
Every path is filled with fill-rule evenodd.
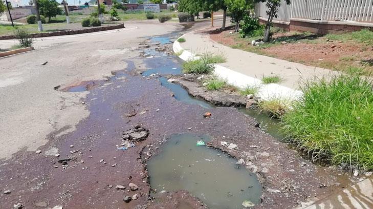
M 263 76 L 280 75 L 284 80 L 279 85 L 295 90 L 299 90 L 299 81 L 313 78 L 314 76 L 321 77 L 336 73 L 327 69 L 305 66 L 295 62 L 232 49 L 211 40 L 209 34 L 203 30 L 185 34 L 183 37 L 186 39 L 181 44 L 184 50 L 193 54 L 223 54 L 227 58 L 227 62 L 220 64 L 221 66 L 259 80 Z

